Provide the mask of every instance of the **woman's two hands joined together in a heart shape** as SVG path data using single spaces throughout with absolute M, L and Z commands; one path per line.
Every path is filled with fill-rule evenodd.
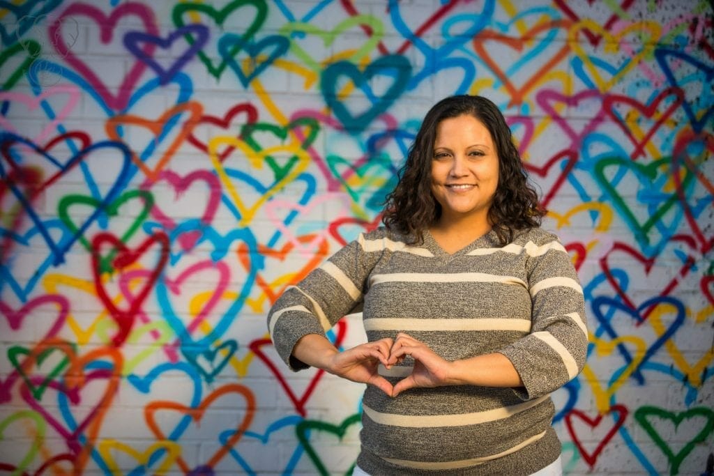
M 379 365 L 391 370 L 411 357 L 414 365 L 411 373 L 392 385 L 379 374 Z M 328 372 L 353 382 L 374 385 L 391 397 L 409 388 L 431 388 L 451 385 L 449 370 L 452 363 L 434 353 L 428 345 L 406 333 L 398 333 L 396 338 L 384 338 L 357 345 L 333 355 Z M 408 367 L 402 367 L 408 369 Z

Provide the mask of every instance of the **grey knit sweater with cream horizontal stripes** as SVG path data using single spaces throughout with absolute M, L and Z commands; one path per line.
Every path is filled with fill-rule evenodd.
M 389 397 L 368 385 L 357 464 L 371 475 L 529 475 L 560 455 L 550 393 L 585 365 L 583 290 L 570 257 L 541 228 L 499 246 L 492 232 L 446 253 L 426 231 L 408 245 L 378 228 L 288 288 L 268 314 L 276 350 L 363 310 L 368 340 L 400 330 L 447 360 L 498 352 L 522 388 L 413 388 Z M 380 373 L 392 384 L 409 360 Z

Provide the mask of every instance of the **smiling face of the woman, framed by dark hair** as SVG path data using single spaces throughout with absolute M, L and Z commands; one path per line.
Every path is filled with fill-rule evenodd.
M 497 186 L 498 153 L 486 126 L 469 115 L 443 119 L 431 161 L 431 193 L 441 205 L 441 223 L 488 223 Z

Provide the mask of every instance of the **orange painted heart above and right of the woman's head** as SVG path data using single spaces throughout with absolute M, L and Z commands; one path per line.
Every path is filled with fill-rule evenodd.
M 518 18 L 522 21 L 521 16 Z M 509 106 L 526 101 L 529 92 L 538 88 L 543 81 L 548 81 L 548 73 L 551 70 L 561 68 L 563 60 L 570 53 L 570 46 L 553 39 L 559 36 L 559 31 L 568 31 L 571 26 L 567 20 L 549 19 L 533 25 L 520 35 L 516 34 L 517 36 L 513 36 L 511 32 L 500 33 L 486 29 L 473 37 L 476 55 L 500 81 L 496 82 L 494 87 L 506 88 L 511 96 Z M 491 50 L 491 44 L 495 44 L 496 49 Z M 508 49 L 516 51 L 516 61 L 507 61 L 509 67 L 506 70 L 501 65 L 504 64 L 504 56 L 510 51 L 504 53 L 498 46 L 507 46 Z M 521 79 L 523 71 L 527 71 L 527 75 Z M 515 84 L 517 77 L 519 81 Z

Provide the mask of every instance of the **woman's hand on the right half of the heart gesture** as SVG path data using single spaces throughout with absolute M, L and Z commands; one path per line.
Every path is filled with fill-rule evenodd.
M 414 359 L 414 368 L 410 375 L 394 385 L 392 397 L 396 397 L 408 388 L 448 385 L 448 370 L 451 362 L 436 355 L 428 345 L 416 340 L 411 335 L 398 333 L 392 345 L 388 363 L 390 365 L 400 363 L 407 355 L 411 355 Z

